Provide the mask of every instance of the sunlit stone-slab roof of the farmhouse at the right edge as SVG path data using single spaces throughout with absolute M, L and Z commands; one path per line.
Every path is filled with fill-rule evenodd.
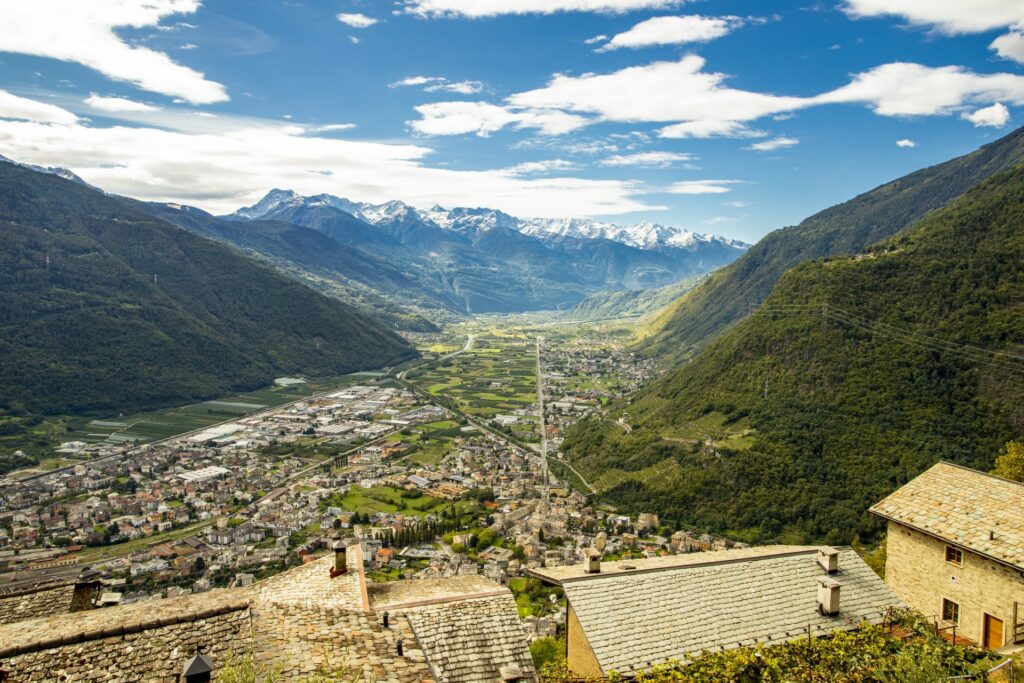
M 1024 569 L 1024 484 L 939 463 L 881 503 L 874 514 Z

